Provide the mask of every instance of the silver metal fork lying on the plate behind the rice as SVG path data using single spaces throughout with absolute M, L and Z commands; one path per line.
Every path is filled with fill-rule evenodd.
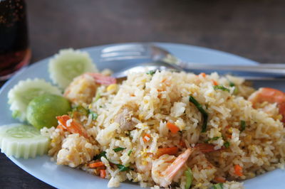
M 219 74 L 231 73 L 242 75 L 251 80 L 276 80 L 285 79 L 285 65 L 261 64 L 261 65 L 214 65 L 207 63 L 185 63 L 172 55 L 164 48 L 153 43 L 130 43 L 113 45 L 104 48 L 100 54 L 101 62 L 139 60 L 145 59 L 151 62 L 167 63 L 187 72 L 219 72 Z

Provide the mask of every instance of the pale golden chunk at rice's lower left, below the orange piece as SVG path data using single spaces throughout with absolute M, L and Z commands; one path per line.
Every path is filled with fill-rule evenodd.
M 91 161 L 95 151 L 92 144 L 79 134 L 70 134 L 63 140 L 62 148 L 58 151 L 57 164 L 72 168 Z

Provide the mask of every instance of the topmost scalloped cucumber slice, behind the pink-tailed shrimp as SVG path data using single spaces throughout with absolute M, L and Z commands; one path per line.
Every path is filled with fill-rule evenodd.
M 98 70 L 88 53 L 68 48 L 60 50 L 49 61 L 48 72 L 53 83 L 65 89 L 78 75 Z

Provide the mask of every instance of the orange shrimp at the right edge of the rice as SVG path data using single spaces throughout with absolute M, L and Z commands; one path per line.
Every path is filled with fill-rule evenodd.
M 285 123 L 285 93 L 272 88 L 260 88 L 249 96 L 248 100 L 252 102 L 253 107 L 257 103 L 269 102 L 276 103 L 279 107 L 279 114 L 282 115 L 282 122 Z

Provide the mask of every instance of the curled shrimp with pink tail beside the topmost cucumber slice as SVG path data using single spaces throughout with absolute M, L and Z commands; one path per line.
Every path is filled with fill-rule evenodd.
M 115 84 L 113 77 L 108 77 L 100 73 L 85 73 L 73 79 L 66 88 L 63 96 L 74 104 L 90 104 L 100 85 Z

